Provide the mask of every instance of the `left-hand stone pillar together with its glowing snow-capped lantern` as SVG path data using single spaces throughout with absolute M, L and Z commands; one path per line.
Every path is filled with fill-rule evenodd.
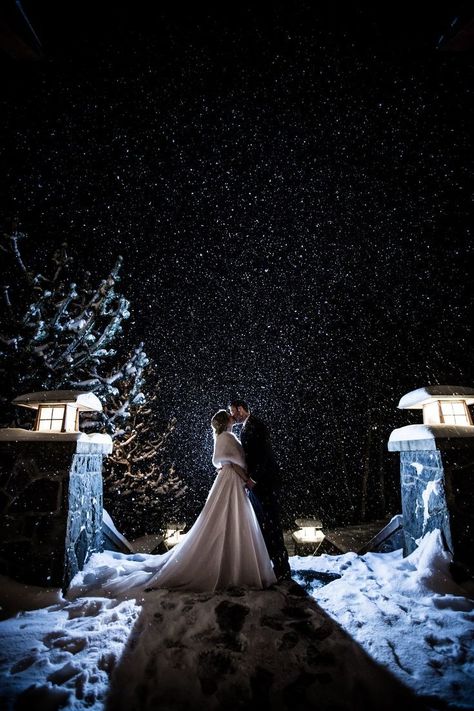
M 0 571 L 66 589 L 102 548 L 102 463 L 109 435 L 81 432 L 79 414 L 101 411 L 91 392 L 16 397 L 36 410 L 32 430 L 0 430 Z

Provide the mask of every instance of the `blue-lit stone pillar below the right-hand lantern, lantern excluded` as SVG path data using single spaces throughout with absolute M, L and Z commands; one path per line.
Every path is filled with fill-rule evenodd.
M 389 449 L 400 452 L 404 555 L 438 528 L 453 562 L 474 573 L 474 437 L 395 436 Z

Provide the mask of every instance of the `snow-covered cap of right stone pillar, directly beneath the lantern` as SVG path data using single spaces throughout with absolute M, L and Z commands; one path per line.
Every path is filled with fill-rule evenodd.
M 439 442 L 465 440 L 464 444 L 474 446 L 472 425 L 407 425 L 393 430 L 388 440 L 390 452 L 405 450 L 439 449 Z M 470 441 L 469 441 L 470 440 Z M 455 443 L 453 442 L 453 445 Z M 443 448 L 443 447 L 441 447 Z

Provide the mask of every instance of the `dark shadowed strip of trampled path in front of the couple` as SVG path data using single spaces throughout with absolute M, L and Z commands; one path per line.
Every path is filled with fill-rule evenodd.
M 110 711 L 421 709 L 296 583 L 147 594 Z

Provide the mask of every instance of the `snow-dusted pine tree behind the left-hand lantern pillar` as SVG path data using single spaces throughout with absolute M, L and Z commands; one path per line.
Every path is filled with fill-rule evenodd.
M 186 487 L 165 446 L 175 422 L 157 414 L 157 379 L 144 344 L 127 349 L 123 322 L 129 301 L 117 290 L 122 258 L 107 278 L 71 280 L 74 260 L 66 244 L 52 257 L 49 276 L 22 257 L 26 235 L 12 229 L 0 243 L 4 304 L 0 312 L 0 420 L 28 426 L 28 412 L 13 408 L 18 394 L 76 389 L 94 392 L 103 412 L 83 416 L 82 429 L 107 432 L 114 449 L 104 468 L 105 506 L 125 535 L 157 532 Z M 145 395 L 153 381 L 154 394 Z

